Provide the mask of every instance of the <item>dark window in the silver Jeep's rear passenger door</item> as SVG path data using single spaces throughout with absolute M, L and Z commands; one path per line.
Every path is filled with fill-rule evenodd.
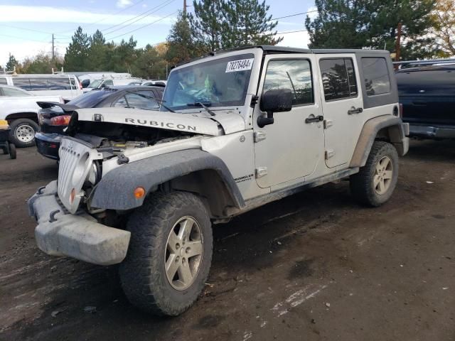
M 353 60 L 334 58 L 319 60 L 326 101 L 357 96 Z

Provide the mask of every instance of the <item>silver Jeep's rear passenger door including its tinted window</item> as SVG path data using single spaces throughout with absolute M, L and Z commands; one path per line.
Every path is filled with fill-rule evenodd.
M 350 53 L 316 58 L 321 74 L 326 166 L 347 166 L 364 121 L 357 61 Z

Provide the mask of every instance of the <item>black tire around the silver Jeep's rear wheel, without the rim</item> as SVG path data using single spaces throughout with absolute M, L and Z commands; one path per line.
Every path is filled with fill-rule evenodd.
M 375 190 L 374 177 L 378 162 L 387 156 L 392 163 L 392 179 L 385 193 L 379 194 Z M 392 144 L 385 141 L 375 141 L 371 147 L 365 166 L 350 176 L 350 192 L 360 204 L 378 207 L 390 199 L 398 179 L 398 153 Z

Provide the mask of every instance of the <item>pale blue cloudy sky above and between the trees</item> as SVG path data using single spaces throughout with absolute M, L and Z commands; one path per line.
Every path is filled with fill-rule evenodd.
M 279 45 L 306 48 L 308 34 L 293 32 L 305 29 L 306 14 L 292 15 L 311 11 L 308 15 L 314 17 L 314 0 L 266 2 L 269 14 L 280 18 L 277 31 L 284 40 Z M 134 36 L 139 48 L 161 43 L 181 9 L 183 0 L 0 0 L 0 65 L 6 65 L 9 53 L 19 61 L 50 53 L 52 33 L 55 52 L 64 55 L 77 26 L 90 35 L 100 29 L 108 41 L 116 43 Z M 188 6 L 188 11 L 192 10 L 193 6 Z

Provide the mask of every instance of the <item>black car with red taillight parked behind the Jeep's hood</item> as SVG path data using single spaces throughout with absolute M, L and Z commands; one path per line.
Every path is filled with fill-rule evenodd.
M 35 134 L 36 148 L 43 156 L 58 160 L 60 140 L 73 111 L 102 107 L 157 110 L 163 92 L 163 87 L 105 87 L 86 92 L 66 104 L 38 102 L 43 109 L 39 113 L 40 131 Z

